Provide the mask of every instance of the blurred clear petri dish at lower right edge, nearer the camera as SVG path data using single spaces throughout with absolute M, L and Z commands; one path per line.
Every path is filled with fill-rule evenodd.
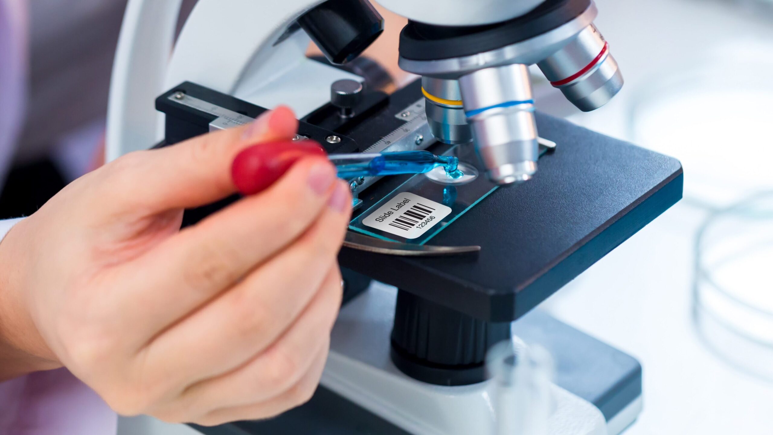
M 726 361 L 773 382 L 773 191 L 707 218 L 696 239 L 693 313 Z

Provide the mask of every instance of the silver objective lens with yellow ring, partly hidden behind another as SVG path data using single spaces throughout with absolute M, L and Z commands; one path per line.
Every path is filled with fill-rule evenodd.
M 451 145 L 472 142 L 459 82 L 422 77 L 421 88 L 427 104 L 427 123 L 435 139 Z

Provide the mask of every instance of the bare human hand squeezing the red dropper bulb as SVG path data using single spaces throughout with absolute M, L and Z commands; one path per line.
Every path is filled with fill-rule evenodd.
M 296 128 L 278 108 L 128 154 L 16 224 L 0 243 L 0 349 L 18 356 L 5 376 L 64 365 L 118 413 L 203 425 L 311 397 L 342 296 L 351 197 L 335 168 L 301 159 L 179 230 L 184 208 L 233 194 L 240 150 Z

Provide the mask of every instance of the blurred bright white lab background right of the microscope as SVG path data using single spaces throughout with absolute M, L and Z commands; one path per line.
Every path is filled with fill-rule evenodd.
M 634 355 L 626 433 L 773 433 L 773 2 L 597 0 L 625 87 L 538 109 L 675 156 L 684 199 L 543 308 Z

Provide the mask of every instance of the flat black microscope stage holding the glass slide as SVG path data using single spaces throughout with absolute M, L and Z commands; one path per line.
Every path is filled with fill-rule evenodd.
M 516 320 L 681 199 L 678 160 L 548 115 L 536 121 L 557 149 L 533 180 L 496 190 L 428 243 L 480 245 L 477 255 L 344 248 L 341 265 L 481 320 Z

